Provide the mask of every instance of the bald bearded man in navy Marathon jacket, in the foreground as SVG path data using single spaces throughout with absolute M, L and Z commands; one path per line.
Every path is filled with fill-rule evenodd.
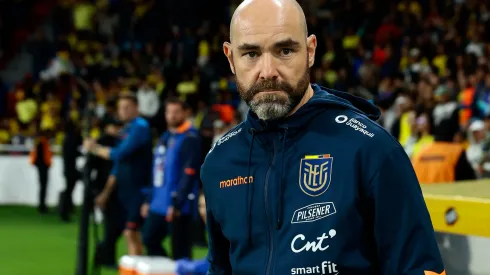
M 208 274 L 444 274 L 403 148 L 361 98 L 309 83 L 293 0 L 247 0 L 224 43 L 245 122 L 201 167 Z

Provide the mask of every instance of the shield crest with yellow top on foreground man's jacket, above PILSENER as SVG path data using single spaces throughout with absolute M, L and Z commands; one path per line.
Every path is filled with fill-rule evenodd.
M 308 196 L 317 197 L 327 191 L 332 180 L 333 157 L 306 155 L 299 165 L 299 187 Z

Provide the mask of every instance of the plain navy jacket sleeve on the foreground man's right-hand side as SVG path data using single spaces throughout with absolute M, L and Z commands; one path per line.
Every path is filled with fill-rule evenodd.
M 386 156 L 369 184 L 380 274 L 445 274 L 419 182 L 400 146 Z

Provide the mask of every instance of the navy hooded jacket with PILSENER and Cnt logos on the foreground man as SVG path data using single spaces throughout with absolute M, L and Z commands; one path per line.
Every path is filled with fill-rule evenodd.
M 284 120 L 249 112 L 206 157 L 208 274 L 443 272 L 416 175 L 379 110 L 313 89 Z

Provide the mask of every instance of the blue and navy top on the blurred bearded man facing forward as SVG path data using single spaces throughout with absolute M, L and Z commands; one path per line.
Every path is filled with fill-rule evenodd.
M 181 214 L 197 213 L 201 142 L 186 122 L 176 133 L 165 132 L 154 152 L 150 211 L 166 215 L 169 206 Z

